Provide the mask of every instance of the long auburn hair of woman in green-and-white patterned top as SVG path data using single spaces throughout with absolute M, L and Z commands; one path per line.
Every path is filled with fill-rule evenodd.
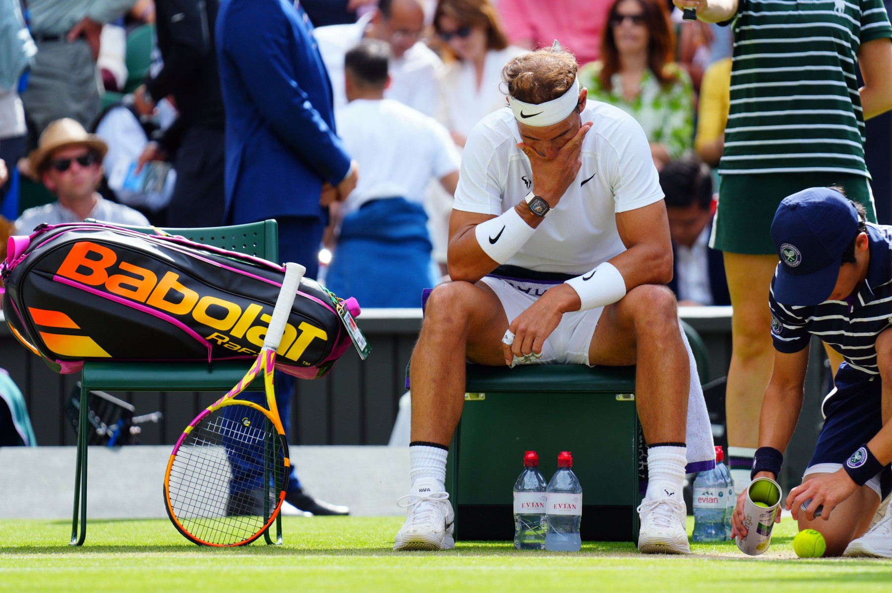
M 607 12 L 607 27 L 601 35 L 601 63 L 599 73 L 601 87 L 607 91 L 613 88 L 611 78 L 619 71 L 619 51 L 613 26 L 610 24 L 616 16 L 616 7 L 624 0 L 614 0 Z M 661 86 L 671 85 L 677 78 L 677 72 L 667 71 L 666 64 L 673 62 L 675 34 L 669 26 L 669 12 L 665 4 L 658 0 L 635 0 L 643 12 L 645 27 L 648 28 L 648 68 L 657 77 Z

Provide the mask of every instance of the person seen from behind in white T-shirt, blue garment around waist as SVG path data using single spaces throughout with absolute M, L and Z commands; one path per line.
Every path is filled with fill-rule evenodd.
M 343 204 L 326 285 L 363 307 L 420 307 L 421 292 L 435 284 L 425 186 L 435 178 L 455 193 L 458 152 L 434 119 L 384 99 L 388 54 L 373 39 L 347 52 L 350 103 L 336 122 L 363 173 Z

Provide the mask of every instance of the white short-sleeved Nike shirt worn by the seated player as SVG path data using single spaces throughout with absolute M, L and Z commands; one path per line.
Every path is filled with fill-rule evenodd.
M 615 214 L 663 199 L 650 146 L 637 121 L 607 103 L 589 101 L 582 122 L 582 168 L 558 205 L 509 265 L 584 274 L 625 251 Z M 508 107 L 471 131 L 461 160 L 455 210 L 500 215 L 524 200 L 533 169 L 516 144 L 522 138 Z

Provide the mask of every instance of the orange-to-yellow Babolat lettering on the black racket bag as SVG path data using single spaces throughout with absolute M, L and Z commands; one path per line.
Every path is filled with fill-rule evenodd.
M 56 274 L 81 284 L 102 287 L 112 294 L 141 302 L 169 315 L 192 317 L 213 330 L 205 335 L 206 340 L 244 354 L 260 351 L 271 319 L 268 313 L 263 313 L 264 308 L 260 304 L 250 303 L 242 309 L 237 303 L 217 296 L 202 296 L 182 284 L 176 272 L 165 272 L 159 278 L 152 270 L 119 261 L 117 253 L 89 241 L 75 243 Z M 271 311 L 272 307 L 268 305 L 267 309 Z M 328 334 L 305 321 L 297 327 L 287 324 L 278 354 L 297 361 L 310 343 L 317 339 L 327 340 Z M 257 348 L 252 349 L 249 344 Z M 310 363 L 303 361 L 303 364 Z

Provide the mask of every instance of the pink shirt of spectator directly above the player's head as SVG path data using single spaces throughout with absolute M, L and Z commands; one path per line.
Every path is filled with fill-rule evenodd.
M 508 39 L 525 49 L 550 47 L 557 39 L 582 64 L 599 58 L 598 39 L 607 24 L 607 0 L 499 0 Z

